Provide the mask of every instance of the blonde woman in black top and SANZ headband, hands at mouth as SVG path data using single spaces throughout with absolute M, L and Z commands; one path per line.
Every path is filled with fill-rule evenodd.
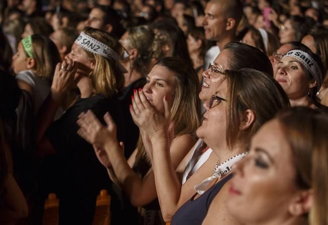
M 44 161 L 42 193 L 55 191 L 60 196 L 60 224 L 91 224 L 99 191 L 108 189 L 115 197 L 106 169 L 98 162 L 92 145 L 76 134 L 76 121 L 78 115 L 88 109 L 92 109 L 98 118 L 109 111 L 118 124 L 118 138 L 122 140 L 123 124 L 117 98 L 124 84 L 124 68 L 119 63 L 121 53 L 122 46 L 117 39 L 98 29 L 85 28 L 65 60 L 57 64 L 50 94 L 40 110 L 38 155 L 56 154 L 55 158 Z M 80 95 L 53 123 L 56 109 L 75 85 Z M 51 176 L 55 185 L 46 180 Z M 47 189 L 47 186 L 55 190 Z M 114 217 L 117 208 L 113 209 Z

